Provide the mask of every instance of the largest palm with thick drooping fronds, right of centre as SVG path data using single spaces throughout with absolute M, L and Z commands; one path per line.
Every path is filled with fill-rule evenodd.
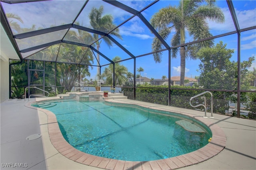
M 150 22 L 158 30 L 159 34 L 167 39 L 171 30 L 174 28 L 176 33 L 172 37 L 171 45 L 181 45 L 185 43 L 185 30 L 193 37 L 193 41 L 211 37 L 206 19 L 219 23 L 224 22 L 224 14 L 215 6 L 216 0 L 206 0 L 207 5 L 200 6 L 203 0 L 181 0 L 179 6 L 167 6 L 162 8 L 152 16 Z M 184 85 L 186 57 L 190 54 L 192 59 L 195 58 L 189 50 L 198 50 L 200 47 L 212 46 L 213 40 L 203 41 L 190 46 L 180 47 L 180 85 Z M 152 43 L 152 50 L 159 51 L 162 49 L 162 43 L 156 37 Z M 195 54 L 194 51 L 194 54 Z M 178 48 L 172 49 L 172 57 L 176 58 Z M 154 53 L 156 63 L 161 62 L 162 53 Z

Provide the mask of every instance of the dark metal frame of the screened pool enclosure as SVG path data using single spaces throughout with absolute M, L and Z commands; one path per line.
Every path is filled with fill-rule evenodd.
M 41 1 L 41 0 L 38 0 L 38 1 Z M 42 1 L 44 1 L 44 0 L 42 0 Z M 65 24 L 65 25 L 60 25 L 60 26 L 56 26 L 56 27 L 50 27 L 50 28 L 46 28 L 46 29 L 40 29 L 40 30 L 36 30 L 36 31 L 31 31 L 31 32 L 27 32 L 27 33 L 20 33 L 20 34 L 13 35 L 13 33 L 11 31 L 11 28 L 10 28 L 10 25 L 8 23 L 8 20 L 6 19 L 6 14 L 4 12 L 4 8 L 2 6 L 2 3 L 8 3 L 8 4 L 30 3 L 30 2 L 35 2 L 35 0 L 31 0 L 31 1 L 30 0 L 1 0 L 1 23 L 2 23 L 4 29 L 5 29 L 5 31 L 7 33 L 10 41 L 11 41 L 11 43 L 12 43 L 16 53 L 18 54 L 18 57 L 20 58 L 21 62 L 24 59 L 27 58 L 27 57 L 23 58 L 21 53 L 26 53 L 26 52 L 37 50 L 37 49 L 44 49 L 44 48 L 47 48 L 47 47 L 49 47 L 51 45 L 55 45 L 55 44 L 58 44 L 58 43 L 67 43 L 67 44 L 78 45 L 78 46 L 82 46 L 82 47 L 88 47 L 92 51 L 100 54 L 101 57 L 103 57 L 107 61 L 109 61 L 110 62 L 109 64 L 113 64 L 113 67 L 114 67 L 115 63 L 119 63 L 119 62 L 122 62 L 122 61 L 127 61 L 127 60 L 132 60 L 133 59 L 134 60 L 134 66 L 133 66 L 133 68 L 134 68 L 134 70 L 133 70 L 133 72 L 134 72 L 134 87 L 132 87 L 132 88 L 134 89 L 134 100 L 136 99 L 136 90 L 135 89 L 138 88 L 138 87 L 136 87 L 136 59 L 139 58 L 139 57 L 144 57 L 144 56 L 147 56 L 147 55 L 152 55 L 153 53 L 159 53 L 159 52 L 162 52 L 162 51 L 168 51 L 168 106 L 170 106 L 170 90 L 172 89 L 172 87 L 171 87 L 171 80 L 170 80 L 170 77 L 171 77 L 171 49 L 182 47 L 182 46 L 185 46 L 185 45 L 194 44 L 194 43 L 199 43 L 199 42 L 210 40 L 210 39 L 224 37 L 224 36 L 227 36 L 227 35 L 237 34 L 237 38 L 238 38 L 238 42 L 237 42 L 238 43 L 238 56 L 237 56 L 238 84 L 237 84 L 237 90 L 224 90 L 224 89 L 193 89 L 193 90 L 236 92 L 238 96 L 240 96 L 241 92 L 254 92 L 254 91 L 250 91 L 250 90 L 240 90 L 240 82 L 241 82 L 240 81 L 240 63 L 241 63 L 241 61 L 240 61 L 240 49 L 241 49 L 241 47 L 240 47 L 240 44 L 241 44 L 240 36 L 241 36 L 241 32 L 252 30 L 252 29 L 256 29 L 256 26 L 240 29 L 240 26 L 239 26 L 239 23 L 238 23 L 238 19 L 236 17 L 236 12 L 235 12 L 232 0 L 226 0 L 226 2 L 228 4 L 228 8 L 230 10 L 230 14 L 232 16 L 232 20 L 234 22 L 236 31 L 232 31 L 232 32 L 228 32 L 228 33 L 224 33 L 224 34 L 208 37 L 206 39 L 200 39 L 198 41 L 192 41 L 190 43 L 185 43 L 185 44 L 177 45 L 177 46 L 174 46 L 174 47 L 170 47 L 168 45 L 168 43 L 166 43 L 166 41 L 158 34 L 158 32 L 152 27 L 152 25 L 150 25 L 148 20 L 146 20 L 146 18 L 144 18 L 143 14 L 142 14 L 142 12 L 144 10 L 146 10 L 147 8 L 153 6 L 156 2 L 158 2 L 158 0 L 153 1 L 152 3 L 150 3 L 148 6 L 144 7 L 140 11 L 137 11 L 137 10 L 135 10 L 133 8 L 130 8 L 129 6 L 126 6 L 126 5 L 124 5 L 124 4 L 122 4 L 122 3 L 118 2 L 118 1 L 112 1 L 112 0 L 103 0 L 103 1 L 107 2 L 108 4 L 111 4 L 113 6 L 116 6 L 117 8 L 120 8 L 120 9 L 126 11 L 126 12 L 129 12 L 130 14 L 132 14 L 132 16 L 130 18 L 128 18 L 126 21 L 122 22 L 116 28 L 120 27 L 124 23 L 128 22 L 129 20 L 131 20 L 132 18 L 137 16 L 148 27 L 148 29 L 150 29 L 150 31 L 161 41 L 161 43 L 164 45 L 165 49 L 162 49 L 161 51 L 146 53 L 144 55 L 134 56 L 132 53 L 130 53 L 130 51 L 128 51 L 125 47 L 123 47 L 120 43 L 118 43 L 118 41 L 116 41 L 116 39 L 112 35 L 110 35 L 110 33 L 114 29 L 116 29 L 116 28 L 114 28 L 113 30 L 109 31 L 108 33 L 104 33 L 102 31 L 97 31 L 97 30 L 94 30 L 94 29 L 90 29 L 90 28 L 87 28 L 87 27 L 76 25 L 74 23 L 74 21 L 76 21 L 76 19 L 74 19 L 73 23 L 70 23 L 70 24 Z M 87 3 L 88 3 L 88 1 L 86 1 L 84 3 L 84 6 L 80 9 L 80 12 L 78 12 L 78 15 L 76 16 L 76 18 L 78 18 L 79 14 L 85 8 Z M 27 49 L 22 49 L 22 50 L 19 50 L 19 47 L 18 47 L 18 45 L 17 45 L 17 43 L 15 41 L 15 39 L 23 39 L 23 38 L 32 37 L 32 36 L 35 36 L 35 35 L 41 35 L 41 34 L 44 34 L 44 33 L 50 33 L 50 32 L 53 32 L 53 31 L 63 30 L 63 29 L 68 29 L 69 30 L 71 28 L 76 28 L 76 29 L 80 29 L 80 30 L 87 31 L 87 32 L 90 32 L 90 33 L 96 33 L 98 35 L 108 37 L 113 43 L 115 43 L 118 47 L 120 47 L 120 49 L 122 49 L 125 53 L 127 53 L 130 56 L 130 58 L 129 59 L 124 59 L 124 60 L 121 60 L 121 61 L 118 61 L 118 62 L 113 62 L 111 59 L 109 59 L 107 56 L 105 56 L 100 51 L 97 51 L 92 46 L 96 41 L 91 43 L 91 44 L 82 44 L 82 43 L 77 43 L 77 42 L 66 41 L 66 40 L 64 40 L 64 37 L 63 37 L 61 40 L 58 40 L 58 41 L 52 41 L 50 43 L 46 43 L 46 44 L 42 44 L 42 45 L 38 45 L 38 46 L 34 46 L 34 47 L 27 48 Z M 100 39 L 98 39 L 97 41 L 100 41 Z M 58 58 L 58 56 L 57 56 L 57 58 Z M 28 59 L 28 60 L 30 60 L 30 59 Z M 35 61 L 44 61 L 44 60 L 35 60 Z M 58 62 L 57 59 L 56 59 L 55 63 L 65 63 L 65 62 Z M 79 64 L 79 66 L 80 65 L 84 65 L 84 64 L 81 64 L 81 62 L 80 63 L 76 63 L 76 64 Z M 107 66 L 109 64 L 100 65 L 100 63 L 99 63 L 99 67 L 101 68 L 102 66 Z M 93 66 L 95 66 L 95 65 L 93 65 Z M 113 80 L 115 80 L 114 77 L 113 77 Z M 80 81 L 80 79 L 79 79 L 79 81 Z M 55 84 L 55 86 L 56 86 L 56 84 Z M 115 82 L 114 81 L 113 81 L 113 86 L 115 86 Z M 175 89 L 177 89 L 177 88 L 175 88 Z M 191 90 L 191 89 L 186 89 L 186 88 L 178 88 L 178 89 L 180 89 L 180 90 L 182 90 L 182 89 L 183 90 Z M 237 105 L 238 105 L 238 107 L 237 107 L 237 112 L 238 112 L 237 117 L 240 117 L 240 98 L 239 97 L 238 97 L 238 100 L 237 100 Z

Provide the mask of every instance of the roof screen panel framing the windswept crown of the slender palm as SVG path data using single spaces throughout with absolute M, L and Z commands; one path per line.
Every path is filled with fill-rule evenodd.
M 108 33 L 131 16 L 132 14 L 104 1 L 90 0 L 76 21 L 85 27 Z

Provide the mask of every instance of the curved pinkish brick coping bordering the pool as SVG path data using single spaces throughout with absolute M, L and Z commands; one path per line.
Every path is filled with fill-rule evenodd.
M 66 158 L 73 160 L 75 162 L 85 164 L 88 166 L 103 168 L 103 169 L 109 169 L 109 170 L 178 169 L 178 168 L 190 166 L 193 164 L 198 164 L 200 162 L 208 160 L 214 157 L 215 155 L 217 155 L 219 152 L 221 152 L 226 146 L 226 135 L 224 134 L 224 131 L 222 131 L 222 129 L 218 125 L 212 123 L 209 119 L 192 115 L 189 113 L 180 112 L 180 111 L 173 111 L 170 109 L 158 108 L 156 106 L 147 106 L 147 105 L 129 103 L 129 102 L 118 101 L 118 100 L 106 100 L 106 102 L 110 102 L 110 103 L 113 102 L 113 103 L 119 103 L 119 104 L 135 104 L 141 107 L 180 113 L 182 115 L 192 117 L 198 121 L 201 121 L 202 123 L 204 123 L 206 126 L 210 128 L 210 130 L 212 131 L 212 140 L 206 146 L 198 150 L 195 150 L 193 152 L 183 154 L 180 156 L 175 156 L 172 158 L 161 159 L 161 160 L 151 160 L 151 161 L 140 162 L 140 161 L 124 161 L 124 160 L 103 158 L 100 156 L 94 156 L 91 154 L 84 153 L 72 147 L 64 139 L 54 113 L 46 109 L 31 106 L 31 104 L 35 102 L 28 102 L 25 106 L 33 109 L 37 109 L 46 113 L 48 117 L 48 134 L 50 137 L 50 141 L 52 145 L 55 147 L 55 149 L 58 150 L 58 152 L 60 152 L 60 154 L 62 154 Z

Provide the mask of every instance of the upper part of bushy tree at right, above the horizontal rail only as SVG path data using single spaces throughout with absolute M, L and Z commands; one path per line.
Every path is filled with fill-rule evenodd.
M 230 61 L 233 49 L 226 49 L 226 44 L 222 41 L 215 47 L 206 47 L 198 51 L 200 76 L 199 85 L 206 89 L 237 89 L 237 62 Z M 244 77 L 248 73 L 254 57 L 249 57 L 248 61 L 241 62 L 240 74 Z

